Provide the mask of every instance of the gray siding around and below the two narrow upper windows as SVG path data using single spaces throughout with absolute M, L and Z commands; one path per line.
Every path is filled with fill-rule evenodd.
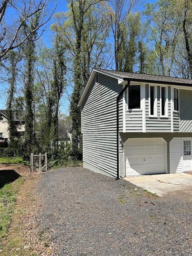
M 146 132 L 171 131 L 171 99 L 168 87 L 168 118 L 160 117 L 160 86 L 157 86 L 157 117 L 149 117 L 149 86 L 146 85 Z

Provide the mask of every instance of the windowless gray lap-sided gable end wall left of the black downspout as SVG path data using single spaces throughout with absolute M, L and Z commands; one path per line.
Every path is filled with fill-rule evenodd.
M 116 97 L 118 80 L 99 74 L 82 104 L 83 161 L 116 176 Z M 122 130 L 122 99 L 119 104 Z

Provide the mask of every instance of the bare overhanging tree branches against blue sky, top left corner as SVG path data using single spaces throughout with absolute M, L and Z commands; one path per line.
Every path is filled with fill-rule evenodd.
M 56 6 L 51 13 L 47 13 L 49 2 L 50 0 L 0 0 L 0 61 L 10 50 L 21 46 L 31 34 L 50 20 Z M 15 12 L 17 18 L 10 22 L 10 16 Z M 40 14 L 38 25 L 33 31 L 23 34 L 23 25 L 29 23 L 35 14 Z

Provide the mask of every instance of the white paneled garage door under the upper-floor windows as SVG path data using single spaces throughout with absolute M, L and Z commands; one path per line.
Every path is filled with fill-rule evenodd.
M 160 139 L 127 139 L 126 175 L 166 172 L 166 143 Z

